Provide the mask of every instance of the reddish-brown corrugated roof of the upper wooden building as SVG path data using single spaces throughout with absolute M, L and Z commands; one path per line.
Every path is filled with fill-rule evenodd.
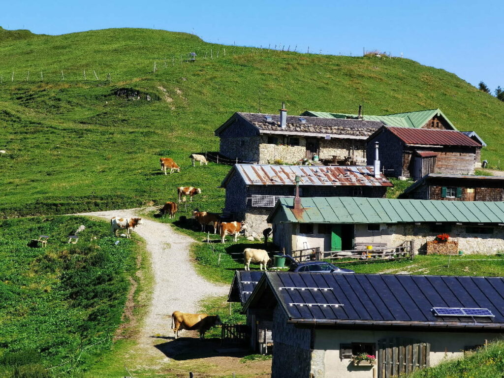
M 460 131 L 394 127 L 387 127 L 387 130 L 406 144 L 481 147 L 479 143 Z

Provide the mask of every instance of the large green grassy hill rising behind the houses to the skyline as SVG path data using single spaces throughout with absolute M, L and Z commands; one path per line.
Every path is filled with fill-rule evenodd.
M 191 51 L 196 62 L 185 61 Z M 213 131 L 234 111 L 277 112 L 282 100 L 291 114 L 355 112 L 362 98 L 375 114 L 439 107 L 488 143 L 483 159 L 504 164 L 504 104 L 408 59 L 223 46 L 147 29 L 0 30 L 0 54 L 0 216 L 139 206 L 188 184 L 203 188 L 198 206 L 219 210 L 229 168 L 192 168 L 188 155 L 217 150 Z M 160 175 L 160 156 L 182 171 Z

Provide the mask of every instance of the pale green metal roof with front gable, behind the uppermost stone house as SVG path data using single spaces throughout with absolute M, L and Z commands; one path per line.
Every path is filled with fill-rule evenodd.
M 329 113 L 324 111 L 305 111 L 302 115 L 310 115 L 313 117 L 321 118 L 346 118 L 346 117 L 357 117 L 357 114 L 345 114 L 345 113 Z M 445 114 L 439 109 L 429 109 L 429 110 L 419 110 L 419 111 L 409 111 L 406 113 L 396 113 L 396 114 L 385 114 L 385 115 L 363 115 L 364 120 L 368 121 L 382 121 L 388 126 L 395 126 L 400 128 L 421 128 L 429 119 L 434 115 L 441 115 L 447 120 L 453 130 L 457 128 L 452 122 L 447 118 Z

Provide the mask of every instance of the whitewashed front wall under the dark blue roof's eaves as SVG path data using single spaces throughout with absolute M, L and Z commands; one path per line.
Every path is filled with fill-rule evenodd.
M 377 347 L 381 339 L 411 338 L 430 343 L 430 366 L 435 366 L 446 359 L 462 357 L 466 346 L 482 345 L 485 340 L 492 341 L 502 336 L 496 333 L 441 331 L 316 330 L 313 352 L 318 351 L 319 358 L 312 360 L 311 372 L 314 378 L 372 378 L 373 367 L 354 366 L 351 359 L 340 358 L 340 344 L 375 343 Z M 320 354 L 324 354 L 323 362 Z

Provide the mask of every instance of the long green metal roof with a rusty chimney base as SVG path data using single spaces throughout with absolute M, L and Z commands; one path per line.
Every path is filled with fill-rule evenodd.
M 391 200 L 363 197 L 301 198 L 296 219 L 293 198 L 281 198 L 268 223 L 504 223 L 504 202 Z

